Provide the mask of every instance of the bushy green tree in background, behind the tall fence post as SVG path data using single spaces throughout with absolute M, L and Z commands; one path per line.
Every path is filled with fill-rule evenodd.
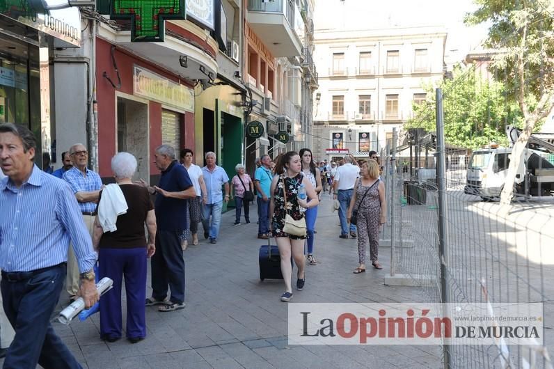
M 441 83 L 445 140 L 455 146 L 479 148 L 492 141 L 506 146 L 505 126 L 523 125 L 519 107 L 507 101 L 505 87 L 497 81 L 488 81 L 475 68 L 457 66 L 452 79 Z M 414 104 L 414 118 L 408 128 L 421 127 L 435 131 L 435 93 L 433 86 L 425 86 L 427 100 Z

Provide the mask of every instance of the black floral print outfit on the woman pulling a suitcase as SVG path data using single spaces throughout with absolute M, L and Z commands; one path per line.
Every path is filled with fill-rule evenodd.
M 287 210 L 285 210 L 285 198 L 283 197 L 283 178 L 285 179 L 285 187 L 287 189 Z M 285 214 L 289 214 L 292 219 L 300 220 L 304 213 L 300 211 L 297 195 L 298 187 L 302 183 L 303 175 L 298 175 L 293 178 L 288 178 L 286 175 L 279 175 L 279 180 L 275 187 L 274 196 L 274 213 L 272 216 L 273 235 L 274 237 L 289 237 L 291 240 L 304 240 L 306 236 L 289 235 L 283 232 L 285 226 Z

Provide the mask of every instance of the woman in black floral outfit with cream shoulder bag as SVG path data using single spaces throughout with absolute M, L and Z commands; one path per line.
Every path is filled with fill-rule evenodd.
M 292 299 L 292 265 L 291 257 L 294 258 L 298 274 L 296 274 L 296 290 L 303 290 L 306 283 L 306 272 L 304 270 L 304 242 L 306 235 L 291 235 L 285 233 L 285 218 L 287 214 L 294 221 L 301 220 L 304 212 L 301 207 L 309 209 L 319 204 L 317 194 L 308 178 L 301 173 L 302 163 L 300 155 L 294 151 L 287 152 L 280 158 L 275 166 L 278 173 L 271 181 L 271 201 L 270 212 L 271 229 L 277 242 L 280 254 L 281 273 L 285 281 L 285 292 L 281 295 L 281 301 L 290 301 Z M 306 188 L 307 198 L 299 198 L 298 191 L 300 185 Z

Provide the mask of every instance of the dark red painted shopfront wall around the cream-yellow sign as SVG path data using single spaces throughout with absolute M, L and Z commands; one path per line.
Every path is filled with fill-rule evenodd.
M 98 109 L 98 164 L 101 177 L 111 177 L 111 157 L 116 154 L 116 88 L 102 77 L 104 72 L 108 74 L 114 84 L 118 77 L 113 69 L 111 61 L 112 45 L 100 38 L 96 39 L 96 100 Z M 115 49 L 116 64 L 118 66 L 121 87 L 117 89 L 122 93 L 133 94 L 133 65 L 139 65 L 155 72 L 162 77 L 179 83 L 180 79 L 165 70 L 158 68 L 136 56 L 127 54 L 125 50 Z M 192 86 L 187 86 L 192 88 Z M 161 104 L 150 102 L 150 174 L 159 174 L 154 161 L 154 150 L 161 145 Z M 187 112 L 184 119 L 184 127 L 181 127 L 181 142 L 187 148 L 194 150 L 194 114 Z M 179 148 L 175 148 L 178 149 Z

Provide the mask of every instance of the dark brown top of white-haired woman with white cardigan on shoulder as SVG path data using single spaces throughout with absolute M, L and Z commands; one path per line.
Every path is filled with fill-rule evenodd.
M 148 194 L 148 189 L 138 185 L 120 185 L 125 201 L 127 213 L 118 216 L 115 232 L 106 232 L 100 238 L 100 248 L 104 249 L 135 249 L 146 247 L 144 222 L 148 212 L 154 209 L 154 204 Z M 102 198 L 102 191 L 98 203 Z

